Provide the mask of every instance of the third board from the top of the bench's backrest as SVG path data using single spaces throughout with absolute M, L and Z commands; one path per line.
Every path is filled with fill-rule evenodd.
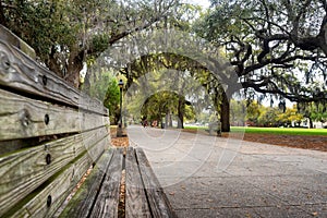
M 96 160 L 107 136 L 101 128 L 0 157 L 0 216 L 84 150 Z

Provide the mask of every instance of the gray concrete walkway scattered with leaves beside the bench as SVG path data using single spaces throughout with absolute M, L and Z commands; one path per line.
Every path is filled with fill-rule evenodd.
M 179 217 L 327 217 L 327 153 L 132 125 Z

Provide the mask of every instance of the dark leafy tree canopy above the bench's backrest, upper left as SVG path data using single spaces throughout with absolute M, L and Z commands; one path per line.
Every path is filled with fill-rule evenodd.
M 90 62 L 119 39 L 173 17 L 178 0 L 1 0 L 0 24 L 26 40 L 51 71 L 80 85 Z

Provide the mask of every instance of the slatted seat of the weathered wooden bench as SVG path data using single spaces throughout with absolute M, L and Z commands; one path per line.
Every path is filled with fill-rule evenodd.
M 111 149 L 98 164 L 60 217 L 119 217 L 122 171 L 125 217 L 175 217 L 141 148 Z

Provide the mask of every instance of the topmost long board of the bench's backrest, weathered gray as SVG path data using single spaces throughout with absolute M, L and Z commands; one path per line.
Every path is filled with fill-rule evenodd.
M 0 39 L 0 85 L 108 116 L 108 110 L 101 101 L 70 86 L 61 77 L 2 39 Z

